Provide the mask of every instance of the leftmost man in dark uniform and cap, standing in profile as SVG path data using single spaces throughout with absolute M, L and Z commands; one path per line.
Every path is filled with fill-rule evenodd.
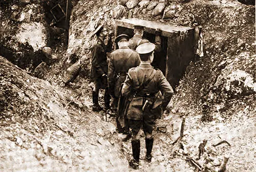
M 93 45 L 92 51 L 92 69 L 91 69 L 91 79 L 94 82 L 93 87 L 93 111 L 98 112 L 103 110 L 99 105 L 99 89 L 105 89 L 104 94 L 104 105 L 105 109 L 110 108 L 110 94 L 108 86 L 106 84 L 106 76 L 108 73 L 108 63 L 106 53 L 110 52 L 112 49 L 112 41 L 108 40 L 108 44 L 104 44 L 106 37 L 108 36 L 108 30 L 103 28 L 103 25 L 99 26 L 94 33 L 97 38 L 97 44 Z

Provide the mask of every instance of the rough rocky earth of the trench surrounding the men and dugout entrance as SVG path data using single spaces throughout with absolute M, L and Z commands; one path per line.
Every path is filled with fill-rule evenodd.
M 120 141 L 115 120 L 91 112 L 92 32 L 105 21 L 113 27 L 117 2 L 72 2 L 68 44 L 65 30 L 46 22 L 44 2 L 51 1 L 1 2 L 1 171 L 134 171 L 127 161 L 131 144 Z M 204 57 L 189 64 L 169 111 L 157 121 L 150 164 L 143 161 L 142 142 L 138 171 L 217 171 L 224 157 L 227 171 L 256 171 L 254 6 L 231 0 L 126 2 L 119 1 L 123 17 L 182 26 L 196 21 L 204 37 Z M 43 53 L 45 46 L 57 59 Z M 42 61 L 47 67 L 38 76 L 44 80 L 33 77 Z M 74 63 L 81 65 L 78 77 L 59 87 Z M 182 120 L 184 136 L 177 140 Z M 199 145 L 205 149 L 200 158 Z

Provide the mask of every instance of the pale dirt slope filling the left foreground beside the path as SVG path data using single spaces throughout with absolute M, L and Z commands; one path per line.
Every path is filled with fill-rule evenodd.
M 31 77 L 3 57 L 0 78 L 1 171 L 127 168 L 115 126 L 89 112 L 77 94 Z

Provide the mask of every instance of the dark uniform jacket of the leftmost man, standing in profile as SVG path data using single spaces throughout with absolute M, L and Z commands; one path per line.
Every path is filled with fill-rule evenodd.
M 111 39 L 110 39 L 111 40 Z M 108 46 L 105 46 L 101 39 L 97 44 L 93 45 L 92 51 L 92 68 L 91 79 L 101 77 L 108 73 L 108 63 L 106 53 L 110 52 L 112 48 L 112 41 L 109 41 Z

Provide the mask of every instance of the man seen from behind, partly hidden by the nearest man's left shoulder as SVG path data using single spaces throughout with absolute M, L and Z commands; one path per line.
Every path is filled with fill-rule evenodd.
M 124 82 L 126 73 L 130 68 L 137 67 L 140 64 L 139 54 L 128 47 L 129 36 L 121 34 L 116 37 L 115 42 L 119 49 L 110 54 L 109 69 L 108 69 L 108 85 L 110 95 L 114 98 L 114 111 L 117 110 L 118 98 L 121 84 Z M 122 132 L 118 116 L 116 118 L 117 130 Z M 126 134 L 128 131 L 124 133 Z

